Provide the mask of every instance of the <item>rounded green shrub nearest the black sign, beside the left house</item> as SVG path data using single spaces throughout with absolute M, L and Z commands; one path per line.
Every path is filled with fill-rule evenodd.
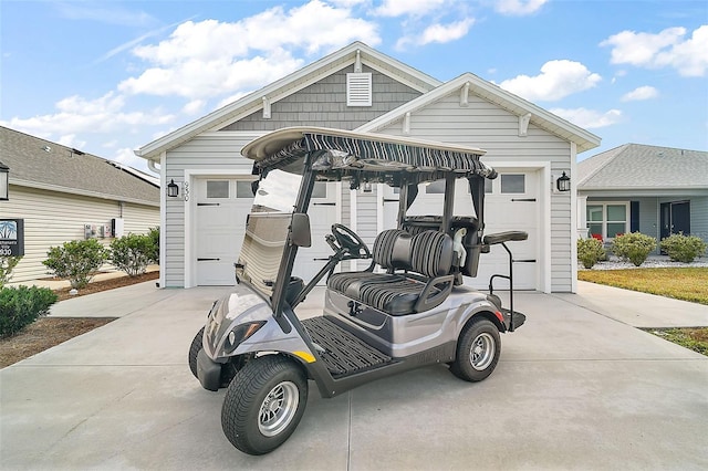
M 95 239 L 72 240 L 52 247 L 42 263 L 54 276 L 67 278 L 72 287 L 84 287 L 108 259 L 108 251 Z

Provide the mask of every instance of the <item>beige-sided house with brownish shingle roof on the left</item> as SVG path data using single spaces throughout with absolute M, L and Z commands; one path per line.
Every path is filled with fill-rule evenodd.
M 24 258 L 12 282 L 48 276 L 50 247 L 159 226 L 159 180 L 101 157 L 0 126 L 0 161 L 10 168 L 10 199 L 0 219 L 24 219 Z M 114 229 L 115 228 L 115 229 Z

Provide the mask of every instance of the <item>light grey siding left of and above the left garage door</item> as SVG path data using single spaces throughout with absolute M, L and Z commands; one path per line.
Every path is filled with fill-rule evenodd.
M 162 266 L 162 270 L 166 287 L 185 286 L 185 205 L 194 205 L 191 198 L 189 201 L 184 200 L 185 171 L 199 171 L 201 175 L 209 175 L 210 170 L 215 171 L 215 175 L 223 171 L 250 172 L 253 161 L 241 156 L 241 149 L 263 134 L 205 133 L 167 151 L 165 181 L 174 179 L 178 182 L 180 196 L 167 198 L 165 201 L 165 266 Z

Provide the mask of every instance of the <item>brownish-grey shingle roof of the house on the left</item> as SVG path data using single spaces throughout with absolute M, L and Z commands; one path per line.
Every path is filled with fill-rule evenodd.
M 0 160 L 10 167 L 11 185 L 159 206 L 159 187 L 152 177 L 3 126 Z

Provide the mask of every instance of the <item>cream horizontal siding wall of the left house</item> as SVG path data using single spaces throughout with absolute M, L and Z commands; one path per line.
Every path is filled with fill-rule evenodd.
M 12 197 L 2 202 L 2 218 L 24 219 L 24 257 L 15 266 L 13 284 L 48 278 L 46 252 L 51 247 L 84 239 L 84 224 L 110 224 L 124 218 L 125 234 L 145 233 L 159 226 L 159 207 L 90 198 L 28 187 L 12 187 Z M 112 238 L 97 239 L 108 247 Z M 110 264 L 103 270 L 113 270 Z

